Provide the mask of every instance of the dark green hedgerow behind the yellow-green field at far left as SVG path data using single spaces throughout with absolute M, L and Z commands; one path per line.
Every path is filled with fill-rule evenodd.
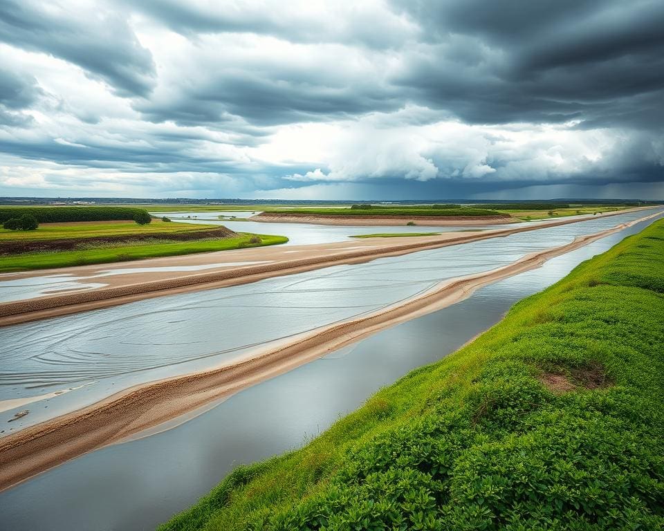
M 145 209 L 129 207 L 0 207 L 0 223 L 26 214 L 34 216 L 39 223 L 136 221 L 137 217 L 149 223 L 146 220 L 150 216 Z

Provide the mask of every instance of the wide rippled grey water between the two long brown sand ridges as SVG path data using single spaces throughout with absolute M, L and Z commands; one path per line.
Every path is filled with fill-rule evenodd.
M 409 299 L 441 281 L 499 268 L 645 215 L 598 218 L 0 328 L 0 426 L 26 407 L 28 416 L 5 424 L 4 434 L 135 384 L 232 362 L 256 348 Z M 51 392 L 59 394 L 42 400 Z M 2 401 L 16 399 L 24 403 L 2 407 Z

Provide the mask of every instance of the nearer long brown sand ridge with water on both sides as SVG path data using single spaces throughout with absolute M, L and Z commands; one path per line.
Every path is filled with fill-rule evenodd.
M 89 407 L 22 429 L 0 439 L 0 490 L 212 400 L 290 371 L 382 328 L 454 304 L 481 286 L 536 268 L 552 257 L 634 223 L 637 221 L 581 236 L 558 248 L 529 254 L 503 268 L 445 281 L 403 303 L 301 334 L 287 344 L 254 353 L 233 364 L 134 386 Z

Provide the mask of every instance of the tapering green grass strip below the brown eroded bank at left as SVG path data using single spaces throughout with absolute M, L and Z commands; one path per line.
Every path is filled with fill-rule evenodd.
M 252 236 L 259 236 L 261 243 L 250 243 Z M 241 233 L 237 238 L 205 239 L 174 243 L 150 243 L 108 246 L 61 252 L 34 252 L 0 257 L 0 272 L 35 269 L 65 268 L 70 265 L 111 263 L 144 258 L 172 257 L 197 252 L 226 251 L 232 249 L 275 245 L 288 241 L 286 236 Z

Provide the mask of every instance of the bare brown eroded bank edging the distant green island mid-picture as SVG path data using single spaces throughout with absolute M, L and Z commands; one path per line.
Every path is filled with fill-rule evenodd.
M 509 214 L 499 216 L 374 216 L 372 214 L 282 214 L 280 212 L 261 212 L 248 218 L 248 221 L 266 221 L 267 223 L 315 223 L 316 225 L 406 225 L 410 221 L 416 225 L 439 227 L 497 225 L 499 223 L 518 223 L 517 218 Z

